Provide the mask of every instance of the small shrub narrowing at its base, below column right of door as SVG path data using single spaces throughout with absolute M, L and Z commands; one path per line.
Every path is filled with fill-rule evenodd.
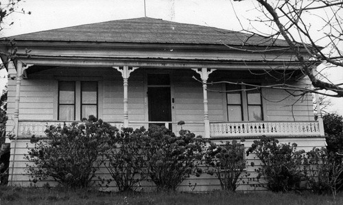
M 235 191 L 239 176 L 246 167 L 244 146 L 237 142 L 226 142 L 224 145 L 211 143 L 204 156 L 207 173 L 213 174 L 220 180 L 222 190 Z

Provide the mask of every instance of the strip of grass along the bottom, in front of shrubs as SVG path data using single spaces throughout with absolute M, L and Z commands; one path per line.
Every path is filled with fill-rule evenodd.
M 311 193 L 105 193 L 1 186 L 0 204 L 335 204 L 330 195 Z M 337 197 L 343 204 L 343 195 Z

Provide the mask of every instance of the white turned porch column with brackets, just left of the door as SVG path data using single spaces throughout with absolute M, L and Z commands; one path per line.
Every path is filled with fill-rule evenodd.
M 132 67 L 132 69 L 129 69 L 128 66 L 123 66 L 123 68 L 119 67 L 113 67 L 114 69 L 117 69 L 121 73 L 121 76 L 123 77 L 123 87 L 124 87 L 124 97 L 123 97 L 123 103 L 124 103 L 124 119 L 123 119 L 123 127 L 128 128 L 128 78 L 130 77 L 130 73 L 132 73 L 134 70 L 139 69 L 139 67 Z

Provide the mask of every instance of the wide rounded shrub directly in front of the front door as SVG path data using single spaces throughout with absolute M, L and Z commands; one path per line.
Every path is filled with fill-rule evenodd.
M 145 165 L 141 173 L 156 184 L 158 191 L 174 191 L 191 174 L 202 173 L 197 162 L 202 159 L 205 141 L 188 130 L 180 130 L 179 134 L 152 126 L 143 138 Z

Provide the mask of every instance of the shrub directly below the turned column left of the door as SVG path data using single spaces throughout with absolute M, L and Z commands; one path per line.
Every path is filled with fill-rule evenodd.
M 103 161 L 119 191 L 132 191 L 142 180 L 137 178 L 137 173 L 143 166 L 141 151 L 144 134 L 144 128 L 135 131 L 132 128 L 123 128 L 116 137 L 108 138 Z

